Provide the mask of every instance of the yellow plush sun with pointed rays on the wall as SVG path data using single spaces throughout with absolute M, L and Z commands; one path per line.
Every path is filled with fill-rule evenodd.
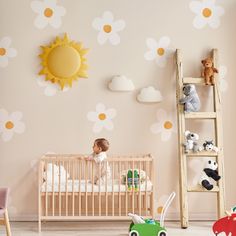
M 82 43 L 70 41 L 65 34 L 64 38 L 56 37 L 48 46 L 41 46 L 43 52 L 39 55 L 43 66 L 39 75 L 45 75 L 46 81 L 58 83 L 61 89 L 65 85 L 72 86 L 78 78 L 87 78 L 87 68 L 84 55 L 88 49 Z

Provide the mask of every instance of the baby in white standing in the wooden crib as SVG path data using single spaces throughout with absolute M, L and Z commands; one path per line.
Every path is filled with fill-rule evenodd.
M 111 170 L 109 164 L 106 162 L 106 151 L 109 149 L 109 142 L 104 138 L 99 138 L 94 141 L 93 153 L 87 157 L 88 161 L 94 161 L 94 184 L 99 185 L 106 183 L 106 178 L 111 177 Z M 107 177 L 106 177 L 107 176 Z

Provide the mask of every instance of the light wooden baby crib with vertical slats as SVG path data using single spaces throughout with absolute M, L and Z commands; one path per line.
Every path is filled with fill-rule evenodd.
M 95 185 L 94 162 L 87 161 L 84 155 L 50 154 L 41 158 L 39 231 L 41 221 L 49 220 L 127 220 L 129 212 L 154 217 L 152 156 L 109 156 L 107 162 L 111 178 L 106 177 L 105 184 Z M 126 182 L 128 170 L 139 173 L 136 188 L 133 187 L 134 179 L 131 189 Z M 141 173 L 145 176 L 141 177 Z

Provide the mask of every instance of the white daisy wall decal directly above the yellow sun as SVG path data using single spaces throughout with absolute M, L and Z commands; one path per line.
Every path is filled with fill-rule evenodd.
M 66 9 L 57 5 L 57 0 L 34 0 L 31 2 L 31 8 L 38 14 L 34 25 L 39 29 L 45 28 L 48 24 L 55 29 L 60 28 L 61 17 L 66 14 Z

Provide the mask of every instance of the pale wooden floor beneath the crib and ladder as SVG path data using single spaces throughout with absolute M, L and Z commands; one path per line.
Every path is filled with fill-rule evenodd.
M 167 222 L 169 236 L 213 236 L 212 222 L 191 222 L 188 229 L 180 229 L 179 223 Z M 36 222 L 12 222 L 12 236 L 127 236 L 129 222 L 47 222 L 41 234 Z M 3 226 L 0 236 L 5 236 Z

